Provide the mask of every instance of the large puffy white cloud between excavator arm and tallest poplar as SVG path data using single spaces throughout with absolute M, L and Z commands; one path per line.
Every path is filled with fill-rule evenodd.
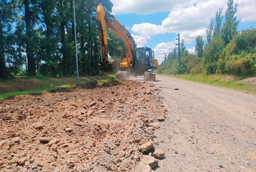
M 152 2 L 152 1 L 149 1 Z M 162 1 L 159 2 L 159 4 Z M 196 3 L 197 2 L 197 3 Z M 194 6 L 193 4 L 196 3 Z M 164 33 L 181 33 L 184 41 L 190 43 L 195 40 L 197 35 L 206 37 L 206 27 L 210 23 L 210 19 L 215 16 L 218 8 L 222 7 L 226 0 L 209 0 L 209 1 L 190 1 L 186 6 L 178 10 L 173 10 L 169 13 L 168 17 L 162 21 L 161 25 L 152 23 L 134 24 L 131 28 L 132 32 L 150 37 L 161 35 Z M 170 3 L 167 3 L 168 5 Z M 219 4 L 219 5 L 218 5 Z M 182 6 L 182 3 L 180 3 Z M 203 15 L 204 14 L 204 15 Z

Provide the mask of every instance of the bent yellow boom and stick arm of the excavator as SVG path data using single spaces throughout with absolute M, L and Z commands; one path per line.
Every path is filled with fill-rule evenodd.
M 116 18 L 100 3 L 97 7 L 97 26 L 99 34 L 99 44 L 101 46 L 101 65 L 108 63 L 108 43 L 107 28 L 115 32 L 125 43 L 129 55 L 126 55 L 127 66 L 135 63 L 135 47 L 132 36 L 127 28 L 120 24 Z M 130 58 L 129 58 L 130 57 Z

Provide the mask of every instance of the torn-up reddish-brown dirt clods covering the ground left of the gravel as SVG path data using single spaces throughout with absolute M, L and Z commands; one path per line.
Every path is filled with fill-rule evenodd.
M 0 171 L 131 171 L 165 113 L 158 93 L 127 81 L 0 100 Z

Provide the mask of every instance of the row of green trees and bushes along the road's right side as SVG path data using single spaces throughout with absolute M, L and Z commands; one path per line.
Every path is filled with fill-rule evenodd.
M 256 29 L 237 31 L 238 4 L 233 0 L 227 4 L 225 16 L 219 9 L 206 30 L 207 41 L 203 41 L 202 35 L 196 37 L 195 54 L 189 54 L 183 45 L 179 65 L 175 48 L 159 66 L 159 73 L 256 76 Z

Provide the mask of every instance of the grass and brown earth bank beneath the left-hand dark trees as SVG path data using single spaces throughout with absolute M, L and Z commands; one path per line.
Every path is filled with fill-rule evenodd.
M 93 76 L 93 77 L 80 77 L 79 85 L 85 87 L 87 83 L 102 82 L 105 85 L 109 84 L 122 84 L 116 78 L 110 76 Z M 22 85 L 25 84 L 25 87 Z M 2 87 L 1 85 L 4 85 Z M 1 82 L 0 85 L 0 99 L 13 98 L 14 96 L 27 95 L 27 94 L 40 94 L 44 91 L 58 92 L 61 90 L 67 91 L 76 86 L 76 78 L 46 78 L 39 77 L 33 79 L 10 79 Z M 8 87 L 9 89 L 4 89 Z M 25 89 L 26 90 L 25 90 Z M 17 90 L 17 91 L 15 91 Z

